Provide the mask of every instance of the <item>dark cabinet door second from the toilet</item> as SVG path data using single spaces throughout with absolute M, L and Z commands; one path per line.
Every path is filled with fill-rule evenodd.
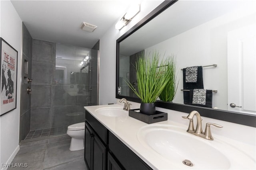
M 106 147 L 102 144 L 100 139 L 94 135 L 92 147 L 92 168 L 91 170 L 105 170 L 106 169 Z

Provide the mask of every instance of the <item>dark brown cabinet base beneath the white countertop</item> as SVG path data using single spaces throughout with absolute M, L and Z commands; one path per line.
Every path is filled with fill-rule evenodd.
M 85 117 L 84 161 L 89 170 L 152 170 L 88 111 Z

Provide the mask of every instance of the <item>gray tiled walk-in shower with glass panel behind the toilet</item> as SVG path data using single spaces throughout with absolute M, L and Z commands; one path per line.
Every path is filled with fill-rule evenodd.
M 23 37 L 28 37 L 25 26 L 23 32 Z M 25 48 L 32 47 L 31 59 L 27 59 L 32 71 L 31 75 L 23 74 L 23 91 L 28 86 L 32 91 L 22 93 L 26 100 L 21 105 L 26 105 L 28 111 L 21 109 L 21 117 L 26 119 L 20 119 L 20 141 L 66 135 L 68 125 L 84 121 L 84 106 L 98 104 L 98 50 L 94 49 L 99 42 L 93 49 L 86 49 L 32 38 L 23 40 L 30 42 Z M 90 62 L 81 67 L 86 56 Z M 32 78 L 32 82 L 27 83 L 26 78 Z

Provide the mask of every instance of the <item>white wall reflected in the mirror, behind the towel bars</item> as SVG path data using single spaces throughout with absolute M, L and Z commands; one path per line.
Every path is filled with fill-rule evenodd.
M 212 95 L 212 107 L 228 109 L 228 73 L 227 73 L 227 35 L 228 31 L 255 23 L 255 14 L 250 11 L 220 16 L 166 41 L 158 43 L 145 53 L 158 50 L 160 54 L 175 54 L 177 59 L 179 85 L 174 103 L 183 104 L 183 74 L 180 68 L 188 66 L 206 66 L 217 64 L 217 67 L 203 68 L 204 88 L 218 90 Z

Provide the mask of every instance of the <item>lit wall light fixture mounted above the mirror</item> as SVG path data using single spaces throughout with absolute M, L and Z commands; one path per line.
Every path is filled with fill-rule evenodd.
M 134 16 L 136 16 L 140 12 L 140 4 L 135 4 L 131 6 L 126 14 L 116 23 L 115 27 L 116 29 L 120 30 L 124 26 L 126 26 Z

